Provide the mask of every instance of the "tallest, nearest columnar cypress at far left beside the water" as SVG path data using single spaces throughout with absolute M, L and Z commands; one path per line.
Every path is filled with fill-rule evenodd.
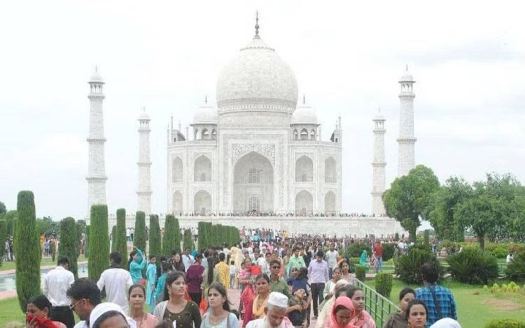
M 35 216 L 33 192 L 18 193 L 16 205 L 18 218 L 15 232 L 16 293 L 22 312 L 27 311 L 27 301 L 40 294 L 40 240 Z

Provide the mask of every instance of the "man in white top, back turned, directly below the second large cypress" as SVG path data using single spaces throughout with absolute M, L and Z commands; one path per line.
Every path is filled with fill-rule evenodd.
M 106 287 L 106 300 L 119 304 L 122 310 L 128 312 L 128 289 L 133 284 L 131 274 L 120 267 L 122 258 L 119 252 L 112 252 L 109 261 L 111 267 L 100 274 L 97 287 L 100 290 Z

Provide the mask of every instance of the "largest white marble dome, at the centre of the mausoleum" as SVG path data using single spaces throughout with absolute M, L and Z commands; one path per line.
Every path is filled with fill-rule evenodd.
M 293 109 L 297 81 L 290 66 L 257 36 L 220 72 L 217 105 L 243 105 L 264 101 Z

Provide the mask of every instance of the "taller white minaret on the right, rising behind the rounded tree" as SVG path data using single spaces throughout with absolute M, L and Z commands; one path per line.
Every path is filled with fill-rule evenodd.
M 401 92 L 399 99 L 401 111 L 399 115 L 399 137 L 397 138 L 397 176 L 407 175 L 415 167 L 414 136 L 414 78 L 408 72 L 408 65 L 404 75 L 399 80 Z

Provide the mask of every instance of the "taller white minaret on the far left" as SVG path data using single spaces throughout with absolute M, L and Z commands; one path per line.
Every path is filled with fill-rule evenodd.
M 88 95 L 89 110 L 89 136 L 88 136 L 88 212 L 91 215 L 91 205 L 106 204 L 106 168 L 104 165 L 104 117 L 102 113 L 102 101 L 104 94 L 102 87 L 104 82 L 95 68 L 95 73 L 89 80 L 90 92 Z

